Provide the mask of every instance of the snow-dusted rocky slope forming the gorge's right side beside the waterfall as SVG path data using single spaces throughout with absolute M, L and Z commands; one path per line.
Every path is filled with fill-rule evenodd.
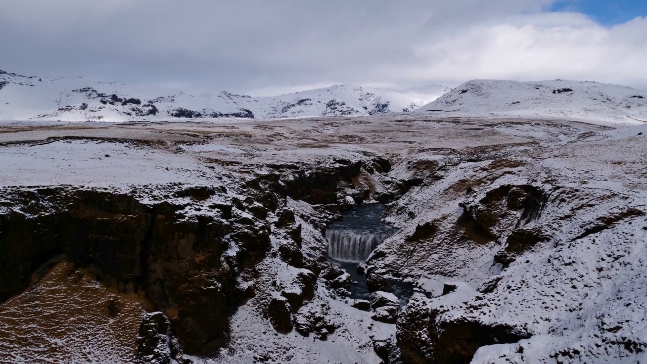
M 432 149 L 395 166 L 421 181 L 389 205 L 403 228 L 367 264 L 427 286 L 400 315 L 403 358 L 642 361 L 645 131 Z

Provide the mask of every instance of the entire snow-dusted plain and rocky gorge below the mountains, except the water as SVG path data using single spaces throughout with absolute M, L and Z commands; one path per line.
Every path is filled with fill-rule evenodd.
M 5 122 L 0 362 L 647 360 L 646 138 L 421 116 Z M 398 231 L 357 301 L 323 231 L 375 202 Z

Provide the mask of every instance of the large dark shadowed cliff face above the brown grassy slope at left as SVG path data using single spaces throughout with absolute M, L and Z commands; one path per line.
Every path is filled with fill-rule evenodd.
M 236 272 L 256 264 L 270 246 L 267 223 L 250 220 L 252 230 L 233 219 L 186 218 L 168 202 L 149 207 L 125 194 L 65 187 L 4 196 L 16 209 L 0 207 L 0 299 L 24 290 L 37 267 L 64 255 L 102 281 L 145 293 L 190 354 L 225 343 L 227 317 L 239 304 Z M 231 242 L 239 253 L 222 264 Z

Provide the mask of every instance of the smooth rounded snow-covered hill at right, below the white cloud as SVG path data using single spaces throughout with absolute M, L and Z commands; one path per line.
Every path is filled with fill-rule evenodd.
M 472 80 L 419 109 L 461 117 L 557 118 L 627 122 L 647 120 L 647 91 L 569 80 Z

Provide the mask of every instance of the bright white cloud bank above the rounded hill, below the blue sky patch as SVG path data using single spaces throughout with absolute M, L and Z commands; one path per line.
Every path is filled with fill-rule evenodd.
M 647 19 L 606 28 L 581 14 L 538 14 L 466 28 L 417 45 L 404 78 L 575 78 L 647 85 Z

